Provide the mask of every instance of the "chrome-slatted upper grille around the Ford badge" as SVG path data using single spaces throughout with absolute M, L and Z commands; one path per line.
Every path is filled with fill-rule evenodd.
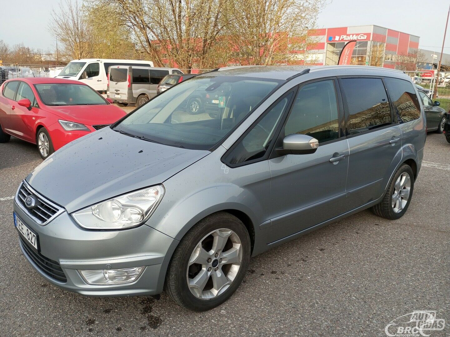
M 25 198 L 28 195 L 33 195 L 39 202 L 34 208 L 27 208 L 25 205 Z M 34 191 L 28 184 L 23 181 L 19 187 L 17 194 L 18 202 L 23 206 L 23 210 L 30 215 L 40 225 L 49 222 L 56 214 L 60 213 L 61 208 L 46 200 L 43 196 Z

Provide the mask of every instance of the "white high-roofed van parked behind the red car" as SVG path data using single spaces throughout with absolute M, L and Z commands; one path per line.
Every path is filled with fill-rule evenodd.
M 57 78 L 76 80 L 89 85 L 106 98 L 108 87 L 108 68 L 111 66 L 153 67 L 152 61 L 116 60 L 110 58 L 83 58 L 70 61 Z

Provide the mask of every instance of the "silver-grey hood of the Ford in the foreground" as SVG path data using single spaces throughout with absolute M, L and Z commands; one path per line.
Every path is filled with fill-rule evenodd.
M 209 153 L 147 142 L 104 128 L 63 146 L 26 180 L 72 213 L 160 184 Z

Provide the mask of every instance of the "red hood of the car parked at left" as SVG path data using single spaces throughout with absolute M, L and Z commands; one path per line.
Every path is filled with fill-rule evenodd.
M 63 120 L 85 125 L 112 124 L 126 115 L 121 108 L 111 104 L 47 106 L 47 110 Z

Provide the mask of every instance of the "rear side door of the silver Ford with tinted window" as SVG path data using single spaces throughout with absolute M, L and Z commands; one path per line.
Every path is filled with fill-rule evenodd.
M 381 78 L 341 78 L 339 86 L 350 150 L 347 175 L 350 210 L 383 195 L 402 158 L 402 134 Z

